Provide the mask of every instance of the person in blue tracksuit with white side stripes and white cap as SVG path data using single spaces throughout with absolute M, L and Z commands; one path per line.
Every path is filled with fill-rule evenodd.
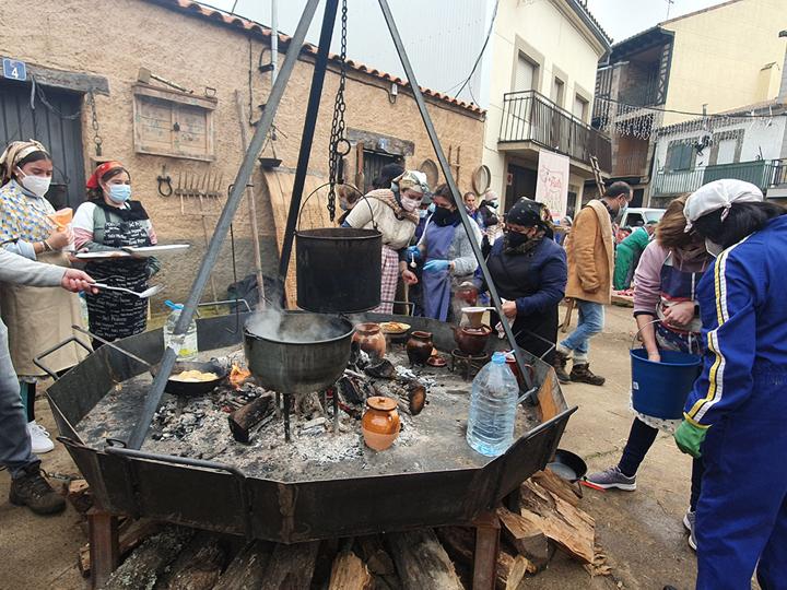
M 685 204 L 716 256 L 698 285 L 705 366 L 674 434 L 702 456 L 697 588 L 787 588 L 787 210 L 716 180 Z

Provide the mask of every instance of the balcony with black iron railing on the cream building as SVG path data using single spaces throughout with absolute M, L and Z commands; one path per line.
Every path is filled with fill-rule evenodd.
M 497 141 L 498 145 L 504 144 L 501 149 L 505 149 L 505 144 L 529 142 L 587 166 L 590 156 L 596 156 L 601 172 L 609 174 L 612 169 L 610 139 L 536 91 L 509 92 L 503 96 Z

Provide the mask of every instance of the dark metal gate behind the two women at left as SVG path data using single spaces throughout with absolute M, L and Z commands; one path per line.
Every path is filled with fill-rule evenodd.
M 11 141 L 35 139 L 52 156 L 55 172 L 46 194 L 55 209 L 84 201 L 82 95 L 0 79 L 0 150 Z M 44 101 L 42 101 L 42 96 Z

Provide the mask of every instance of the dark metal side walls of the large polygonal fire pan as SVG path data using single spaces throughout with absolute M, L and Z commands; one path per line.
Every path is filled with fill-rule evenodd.
M 232 338 L 239 342 L 240 331 L 224 330 L 234 326 L 234 316 L 203 320 L 201 330 L 207 335 L 200 346 L 226 346 Z M 447 326 L 425 320 L 420 327 L 435 333 L 439 347 L 446 346 L 438 334 L 449 331 Z M 156 332 L 120 344 L 150 361 L 163 350 Z M 545 366 L 533 364 L 538 379 Z M 48 393 L 60 433 L 68 437 L 67 448 L 99 506 L 111 512 L 285 543 L 470 523 L 544 467 L 573 412 L 561 411 L 524 434 L 504 456 L 478 469 L 283 483 L 248 477 L 220 463 L 82 444 L 72 424 L 102 399 L 113 378 L 124 380 L 143 370 L 102 349 Z

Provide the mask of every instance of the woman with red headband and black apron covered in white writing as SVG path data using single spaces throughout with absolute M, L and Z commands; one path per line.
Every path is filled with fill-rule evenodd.
M 157 239 L 142 203 L 131 200 L 128 170 L 120 162 L 98 166 L 87 179 L 87 198 L 73 219 L 75 247 L 81 252 L 106 253 L 107 258 L 90 260 L 85 271 L 96 282 L 144 291 L 160 263 L 155 258 L 130 256 L 124 248 L 155 246 Z M 85 298 L 90 331 L 95 335 L 113 341 L 144 332 L 146 299 L 107 290 L 85 294 Z

